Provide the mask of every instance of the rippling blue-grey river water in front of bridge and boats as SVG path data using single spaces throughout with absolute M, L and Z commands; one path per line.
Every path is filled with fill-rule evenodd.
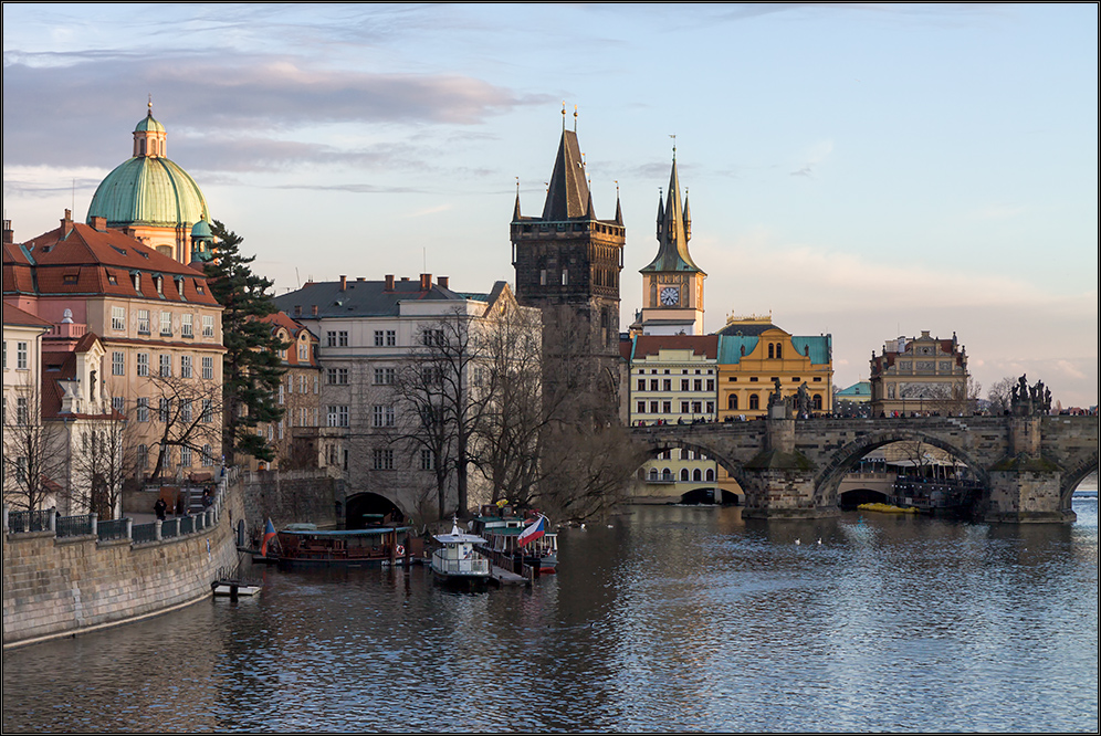
M 1074 511 L 636 506 L 473 595 L 256 569 L 254 599 L 4 652 L 3 732 L 1095 733 L 1095 496 Z

